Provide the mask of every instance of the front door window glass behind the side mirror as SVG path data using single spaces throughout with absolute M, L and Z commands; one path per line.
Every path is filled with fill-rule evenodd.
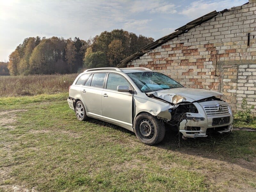
M 107 89 L 117 91 L 117 86 L 119 85 L 130 87 L 130 84 L 123 76 L 110 73 L 108 75 Z

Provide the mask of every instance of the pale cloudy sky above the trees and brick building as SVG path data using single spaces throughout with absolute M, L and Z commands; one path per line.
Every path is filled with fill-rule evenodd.
M 87 40 L 124 29 L 155 40 L 248 0 L 0 0 L 0 61 L 27 37 Z

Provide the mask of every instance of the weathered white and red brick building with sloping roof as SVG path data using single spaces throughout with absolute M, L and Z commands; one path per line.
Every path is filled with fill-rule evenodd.
M 256 0 L 211 12 L 121 61 L 162 72 L 186 87 L 223 93 L 233 110 L 256 111 Z

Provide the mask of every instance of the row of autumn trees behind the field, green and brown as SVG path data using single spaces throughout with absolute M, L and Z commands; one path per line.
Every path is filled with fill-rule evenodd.
M 88 40 L 79 37 L 28 37 L 9 55 L 8 69 L 10 75 L 18 76 L 66 74 L 76 73 L 82 68 L 115 67 L 153 41 L 151 37 L 137 36 L 123 29 L 104 31 Z

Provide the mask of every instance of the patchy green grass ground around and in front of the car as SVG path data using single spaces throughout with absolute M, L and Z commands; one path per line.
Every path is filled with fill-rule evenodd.
M 67 96 L 1 98 L 0 108 L 12 110 L 0 110 L 9 119 L 0 123 L 0 191 L 256 189 L 253 132 L 179 141 L 167 131 L 147 146 L 123 128 L 77 121 Z

